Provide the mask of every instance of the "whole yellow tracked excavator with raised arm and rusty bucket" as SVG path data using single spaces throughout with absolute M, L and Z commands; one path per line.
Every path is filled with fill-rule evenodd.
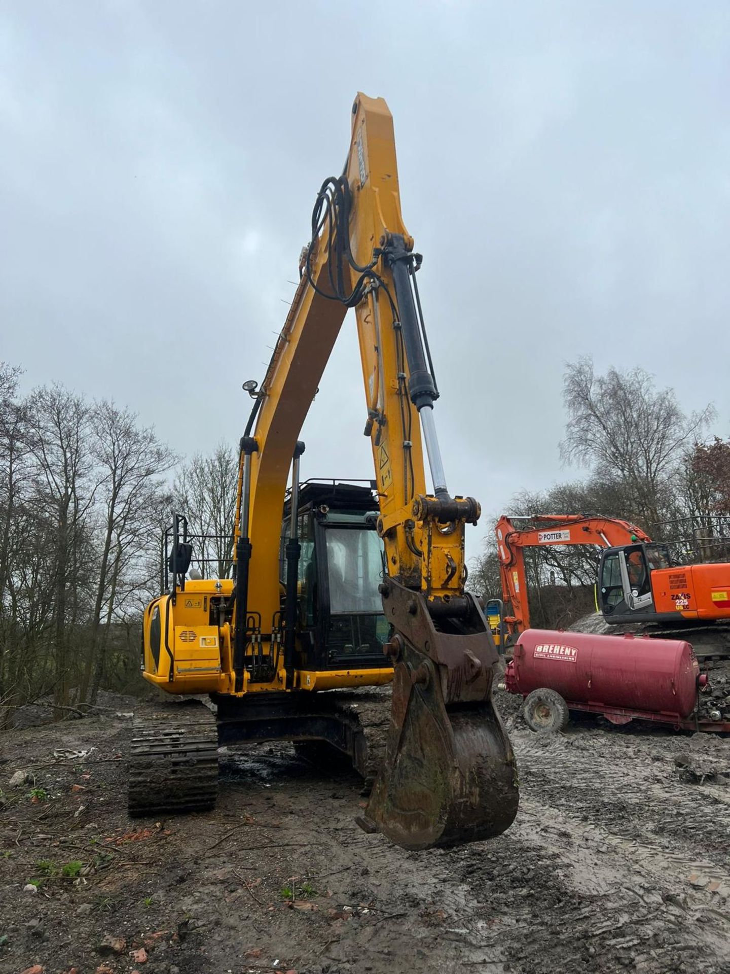
M 233 578 L 192 578 L 201 538 L 183 515 L 165 532 L 142 660 L 164 693 L 135 713 L 128 807 L 210 808 L 219 746 L 289 740 L 347 756 L 372 785 L 360 826 L 419 849 L 508 828 L 517 770 L 493 705 L 490 628 L 464 586 L 464 528 L 480 507 L 447 489 L 392 118 L 358 94 L 351 122 L 264 381 L 243 384 Z M 298 437 L 348 308 L 375 479 L 300 483 Z

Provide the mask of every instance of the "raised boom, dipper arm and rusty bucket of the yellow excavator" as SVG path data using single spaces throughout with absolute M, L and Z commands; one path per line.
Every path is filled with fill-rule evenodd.
M 387 562 L 385 652 L 394 667 L 386 758 L 361 824 L 408 848 L 498 835 L 518 805 L 514 756 L 492 702 L 497 654 L 464 589 L 464 526 L 476 523 L 480 507 L 447 488 L 419 267 L 400 212 L 390 112 L 382 98 L 358 94 L 344 172 L 317 196 L 301 280 L 241 441 L 234 668 L 240 693 L 249 616 L 255 611 L 266 627 L 279 609 L 278 530 L 299 432 L 354 308 Z M 297 556 L 295 536 L 289 556 Z M 285 629 L 292 687 L 293 628 Z

